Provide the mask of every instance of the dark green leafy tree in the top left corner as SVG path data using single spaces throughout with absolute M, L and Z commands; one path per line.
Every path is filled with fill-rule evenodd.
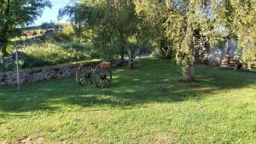
M 49 0 L 0 0 L 0 43 L 1 52 L 7 55 L 6 45 L 18 26 L 32 23 L 45 7 L 51 7 Z

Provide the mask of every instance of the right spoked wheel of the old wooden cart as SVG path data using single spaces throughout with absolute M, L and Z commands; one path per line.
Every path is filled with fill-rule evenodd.
M 97 88 L 108 88 L 112 81 L 112 72 L 111 69 L 101 68 L 100 65 L 96 66 L 93 75 L 94 84 Z

